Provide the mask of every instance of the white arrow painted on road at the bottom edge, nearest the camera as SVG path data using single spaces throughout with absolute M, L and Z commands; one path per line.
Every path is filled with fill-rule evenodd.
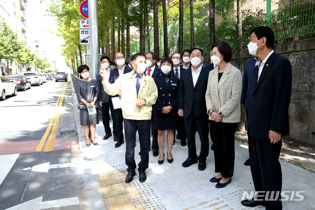
M 79 204 L 78 197 L 64 198 L 64 199 L 44 201 L 44 202 L 42 202 L 42 200 L 43 200 L 43 196 L 35 198 L 31 201 L 27 201 L 25 203 L 16 205 L 6 210 L 43 210 L 43 209 L 48 209 L 48 208 L 66 207 L 66 206 Z

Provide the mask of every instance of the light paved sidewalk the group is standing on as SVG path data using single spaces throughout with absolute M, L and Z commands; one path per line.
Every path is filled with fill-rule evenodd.
M 103 124 L 96 125 L 95 140 L 99 146 L 85 146 L 85 136 L 80 126 L 77 99 L 72 85 L 73 106 L 77 123 L 79 146 L 83 158 L 83 169 L 89 203 L 93 210 L 260 210 L 262 206 L 247 208 L 241 205 L 243 191 L 249 194 L 254 191 L 251 170 L 245 166 L 248 159 L 248 147 L 235 142 L 235 169 L 232 182 L 218 189 L 216 183 L 209 180 L 216 176 L 214 172 L 214 154 L 210 150 L 207 157 L 207 168 L 198 171 L 198 164 L 188 168 L 182 167 L 187 159 L 188 148 L 182 147 L 180 140 L 173 146 L 173 163 L 164 160 L 158 165 L 158 156 L 150 151 L 148 179 L 139 182 L 139 174 L 131 183 L 125 183 L 127 174 L 125 164 L 126 143 L 115 148 L 113 137 L 102 140 L 105 135 Z M 111 122 L 112 126 L 112 122 Z M 138 137 L 137 137 L 138 139 Z M 210 139 L 210 137 L 209 137 Z M 210 142 L 210 145 L 212 143 Z M 167 144 L 164 145 L 167 151 Z M 197 153 L 200 150 L 199 135 L 196 133 Z M 199 150 L 198 150 L 199 149 Z M 135 147 L 135 161 L 140 161 L 139 142 Z M 166 159 L 166 158 L 165 158 Z M 283 201 L 284 210 L 315 209 L 315 174 L 280 160 L 283 171 L 283 191 L 305 191 L 302 201 Z M 98 178 L 98 179 L 97 179 Z M 291 192 L 286 193 L 291 197 Z M 295 196 L 294 199 L 299 199 Z

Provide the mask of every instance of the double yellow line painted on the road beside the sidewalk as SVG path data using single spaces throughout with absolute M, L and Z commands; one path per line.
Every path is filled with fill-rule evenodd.
M 67 86 L 67 83 L 65 83 L 63 85 L 63 90 L 61 91 L 61 95 L 58 97 L 57 102 L 55 104 L 56 107 L 63 106 L 63 98 L 64 98 L 66 86 Z M 41 140 L 40 140 L 40 142 L 39 142 L 39 144 L 37 146 L 37 149 L 35 151 L 41 151 L 43 149 L 43 146 L 45 144 L 47 136 L 48 136 L 48 134 L 49 134 L 49 132 L 50 132 L 52 127 L 53 127 L 53 129 L 52 129 L 52 132 L 50 133 L 50 136 L 48 138 L 48 141 L 47 141 L 47 144 L 46 144 L 46 147 L 45 147 L 44 151 L 52 151 L 53 150 L 54 144 L 55 144 L 55 140 L 56 140 L 56 136 L 57 136 L 57 132 L 58 132 L 58 126 L 59 126 L 59 122 L 60 122 L 60 117 L 61 117 L 61 114 L 57 114 L 57 115 L 54 115 L 50 119 L 50 122 L 48 124 L 47 130 L 45 131 L 45 134 L 41 138 Z M 54 120 L 55 120 L 55 122 L 54 122 Z

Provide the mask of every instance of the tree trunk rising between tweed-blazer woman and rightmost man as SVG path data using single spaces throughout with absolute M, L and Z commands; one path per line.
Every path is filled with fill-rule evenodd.
M 237 56 L 238 56 L 238 69 L 241 70 L 243 75 L 243 49 L 242 49 L 242 2 L 237 0 Z M 238 123 L 238 131 L 245 131 L 246 113 L 244 107 L 241 107 L 241 121 Z

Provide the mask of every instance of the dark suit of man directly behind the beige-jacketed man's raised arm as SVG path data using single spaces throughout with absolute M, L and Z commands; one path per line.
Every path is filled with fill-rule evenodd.
M 130 71 L 132 71 L 133 68 L 130 68 L 129 66 L 125 65 L 124 68 L 124 74 L 129 73 Z M 110 70 L 110 75 L 109 75 L 109 83 L 113 84 L 117 78 L 119 77 L 119 71 L 118 68 L 113 68 L 112 70 Z M 118 97 L 119 95 L 114 95 L 114 96 L 110 96 L 111 98 L 113 97 Z M 117 134 L 117 140 L 124 140 L 124 134 L 123 134 L 123 111 L 121 108 L 119 109 L 115 109 L 115 118 L 116 118 L 116 134 Z

